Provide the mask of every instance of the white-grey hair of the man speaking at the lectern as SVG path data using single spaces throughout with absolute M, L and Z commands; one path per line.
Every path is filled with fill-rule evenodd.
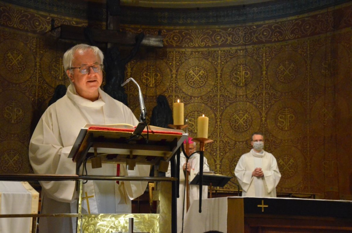
M 99 56 L 100 64 L 102 64 L 102 62 L 104 60 L 104 54 L 98 47 L 93 46 L 93 45 L 88 45 L 88 44 L 77 44 L 64 53 L 64 57 L 62 60 L 62 63 L 64 65 L 64 69 L 69 70 L 72 67 L 73 57 L 74 57 L 76 51 L 84 52 L 89 49 L 92 50 L 95 55 Z

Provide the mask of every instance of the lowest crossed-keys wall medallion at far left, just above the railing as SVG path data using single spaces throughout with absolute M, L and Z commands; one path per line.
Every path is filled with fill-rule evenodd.
M 24 163 L 28 163 L 28 148 L 18 141 L 3 141 L 0 143 L 1 173 L 18 173 Z

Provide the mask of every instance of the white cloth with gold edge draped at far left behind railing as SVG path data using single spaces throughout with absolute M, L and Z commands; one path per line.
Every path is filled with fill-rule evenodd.
M 28 182 L 0 181 L 0 214 L 37 214 L 39 193 Z M 0 233 L 31 232 L 31 218 L 0 218 Z

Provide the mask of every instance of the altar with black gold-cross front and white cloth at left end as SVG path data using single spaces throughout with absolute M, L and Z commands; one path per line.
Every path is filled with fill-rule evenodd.
M 210 230 L 352 232 L 352 201 L 221 197 L 203 200 L 202 213 L 198 212 L 198 202 L 193 202 L 185 217 L 184 232 Z

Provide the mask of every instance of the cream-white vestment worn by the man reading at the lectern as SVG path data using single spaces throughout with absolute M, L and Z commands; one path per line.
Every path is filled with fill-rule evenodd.
M 64 97 L 46 109 L 40 118 L 29 145 L 29 159 L 36 174 L 76 174 L 76 164 L 69 152 L 86 124 L 131 124 L 138 120 L 132 111 L 99 88 L 99 99 L 92 102 L 77 95 L 70 84 Z M 116 176 L 116 164 L 103 164 L 88 175 Z M 120 165 L 121 176 L 149 176 L 149 165 L 137 165 L 127 171 Z M 42 213 L 76 213 L 74 181 L 40 181 L 42 185 Z M 130 213 L 131 200 L 142 195 L 147 182 L 88 181 L 83 185 L 82 212 Z M 84 197 L 87 196 L 86 199 Z M 88 201 L 87 201 L 88 200 Z M 75 229 L 75 218 L 40 218 L 40 233 L 69 233 Z

